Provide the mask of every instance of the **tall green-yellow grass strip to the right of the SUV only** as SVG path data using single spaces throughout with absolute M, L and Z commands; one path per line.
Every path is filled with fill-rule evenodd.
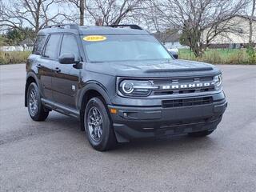
M 213 64 L 256 64 L 256 61 L 249 62 L 249 56 L 246 53 L 246 49 L 206 50 L 202 58 L 195 58 L 190 50 L 182 49 L 179 50 L 178 56 L 180 59 L 209 62 Z

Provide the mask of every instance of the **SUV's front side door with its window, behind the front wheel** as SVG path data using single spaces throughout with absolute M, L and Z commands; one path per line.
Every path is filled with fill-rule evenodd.
M 62 54 L 74 54 L 75 60 L 80 60 L 78 39 L 74 34 L 63 35 L 59 55 Z M 75 109 L 75 95 L 78 90 L 80 70 L 76 69 L 74 65 L 74 63 L 61 64 L 56 62 L 54 69 L 58 71 L 55 72 L 52 83 L 54 102 Z

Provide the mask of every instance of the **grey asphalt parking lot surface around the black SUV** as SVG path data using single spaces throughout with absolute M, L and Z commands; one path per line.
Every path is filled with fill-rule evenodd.
M 0 191 L 255 191 L 256 66 L 219 67 L 229 105 L 214 134 L 101 153 L 74 118 L 33 122 L 25 65 L 0 66 Z

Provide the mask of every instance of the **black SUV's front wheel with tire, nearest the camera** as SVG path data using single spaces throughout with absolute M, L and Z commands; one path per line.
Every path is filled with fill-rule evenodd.
M 94 114 L 98 116 L 95 118 Z M 100 98 L 91 98 L 87 103 L 84 124 L 86 136 L 95 150 L 105 151 L 114 148 L 116 144 L 114 130 L 106 106 Z

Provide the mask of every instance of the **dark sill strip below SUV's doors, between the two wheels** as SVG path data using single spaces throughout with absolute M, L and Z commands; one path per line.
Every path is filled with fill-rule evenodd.
M 75 110 L 70 107 L 63 106 L 62 104 L 52 102 L 46 98 L 41 98 L 41 101 L 44 106 L 46 106 L 47 108 L 50 108 L 51 110 L 55 110 L 59 113 L 66 114 L 74 118 L 80 118 L 79 110 Z

